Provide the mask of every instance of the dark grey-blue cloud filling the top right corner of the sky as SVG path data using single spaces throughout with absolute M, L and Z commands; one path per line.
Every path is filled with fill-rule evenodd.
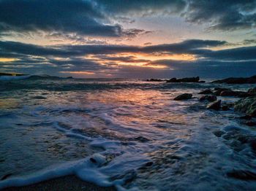
M 225 31 L 255 28 L 255 8 L 254 0 L 188 0 L 183 15 L 191 23 L 208 23 L 209 29 Z

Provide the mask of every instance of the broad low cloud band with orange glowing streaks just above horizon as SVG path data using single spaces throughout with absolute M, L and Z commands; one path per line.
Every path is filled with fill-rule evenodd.
M 209 49 L 227 43 L 190 39 L 175 44 L 140 47 L 115 44 L 39 46 L 0 41 L 1 58 L 17 58 L 12 62 L 1 62 L 0 66 L 3 71 L 34 74 L 89 71 L 95 73 L 94 77 L 104 77 L 104 72 L 111 77 L 185 77 L 196 74 L 202 77 L 227 77 L 256 73 L 255 46 Z M 145 56 L 140 57 L 140 54 Z M 195 55 L 197 59 L 162 59 L 166 58 L 162 55 L 176 54 Z M 152 60 L 153 55 L 159 59 Z

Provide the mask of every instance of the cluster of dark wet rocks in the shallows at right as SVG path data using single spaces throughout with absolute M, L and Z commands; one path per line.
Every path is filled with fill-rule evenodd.
M 223 111 L 229 110 L 231 107 L 234 107 L 234 110 L 237 112 L 243 112 L 248 116 L 256 117 L 256 87 L 249 89 L 247 92 L 242 91 L 233 91 L 228 88 L 215 87 L 214 90 L 203 90 L 200 93 L 203 95 L 199 98 L 199 101 L 208 101 L 210 102 L 206 108 Z M 236 101 L 235 104 L 222 104 L 221 100 L 217 100 L 217 96 L 236 96 L 242 97 L 239 101 Z M 191 93 L 183 93 L 178 95 L 173 100 L 182 101 L 192 98 Z

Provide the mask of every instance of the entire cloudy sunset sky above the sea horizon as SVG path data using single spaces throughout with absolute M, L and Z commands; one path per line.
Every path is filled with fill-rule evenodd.
M 256 75 L 256 0 L 0 0 L 0 72 Z

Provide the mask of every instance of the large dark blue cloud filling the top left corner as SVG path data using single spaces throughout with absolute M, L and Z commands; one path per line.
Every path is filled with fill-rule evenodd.
M 107 24 L 105 24 L 107 23 Z M 0 32 L 64 31 L 89 36 L 122 36 L 121 26 L 108 19 L 91 1 L 1 0 Z

